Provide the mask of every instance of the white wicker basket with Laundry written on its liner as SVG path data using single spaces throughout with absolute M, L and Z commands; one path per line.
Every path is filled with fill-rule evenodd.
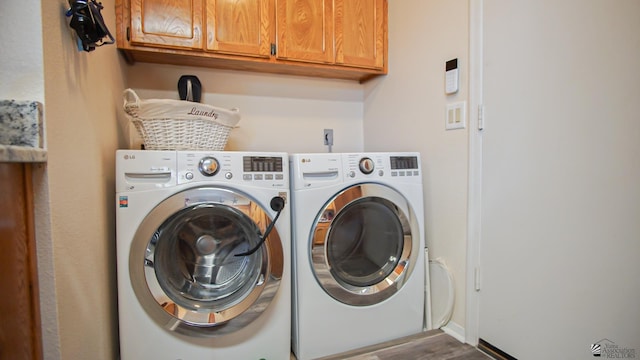
M 224 150 L 238 121 L 238 109 L 171 99 L 141 100 L 132 89 L 122 95 L 124 111 L 147 150 Z

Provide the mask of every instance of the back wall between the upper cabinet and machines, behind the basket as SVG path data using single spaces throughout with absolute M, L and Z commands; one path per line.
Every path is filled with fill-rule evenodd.
M 324 129 L 334 130 L 334 152 L 363 148 L 357 82 L 137 63 L 127 67 L 127 86 L 143 99 L 178 99 L 181 75 L 198 77 L 202 103 L 240 109 L 226 150 L 326 152 Z

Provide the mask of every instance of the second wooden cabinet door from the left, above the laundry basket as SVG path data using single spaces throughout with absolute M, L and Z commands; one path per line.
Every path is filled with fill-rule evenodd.
M 270 0 L 206 0 L 207 50 L 269 57 L 274 43 Z

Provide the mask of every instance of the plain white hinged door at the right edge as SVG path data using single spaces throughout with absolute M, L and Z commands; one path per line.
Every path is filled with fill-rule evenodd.
M 484 4 L 479 335 L 519 359 L 601 339 L 638 357 L 640 2 Z

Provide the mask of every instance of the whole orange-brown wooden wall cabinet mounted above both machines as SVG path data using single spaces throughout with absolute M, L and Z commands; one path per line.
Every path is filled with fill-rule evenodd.
M 387 0 L 116 0 L 128 62 L 360 82 L 387 73 Z

